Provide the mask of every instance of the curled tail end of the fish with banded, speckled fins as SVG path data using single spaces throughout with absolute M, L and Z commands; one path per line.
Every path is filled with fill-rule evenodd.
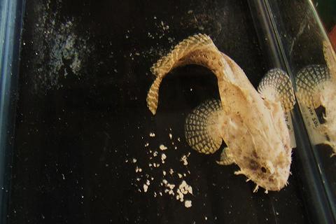
M 211 59 L 209 59 L 211 55 Z M 214 62 L 220 62 L 221 52 L 204 34 L 190 36 L 175 46 L 174 50 L 158 60 L 152 68 L 152 73 L 157 76 L 147 95 L 147 106 L 153 114 L 158 108 L 159 88 L 162 79 L 169 71 L 186 64 L 200 64 L 214 71 Z

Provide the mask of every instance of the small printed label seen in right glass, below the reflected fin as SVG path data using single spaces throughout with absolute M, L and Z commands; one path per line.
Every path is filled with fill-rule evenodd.
M 327 139 L 324 134 L 317 130 L 318 127 L 321 127 L 321 123 L 318 120 L 315 109 L 302 104 L 301 111 L 311 143 L 314 145 L 323 144 Z

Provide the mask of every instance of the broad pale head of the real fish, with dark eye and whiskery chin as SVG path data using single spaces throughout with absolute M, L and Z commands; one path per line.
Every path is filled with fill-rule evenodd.
M 244 106 L 248 106 L 249 100 Z M 235 162 L 248 180 L 265 190 L 279 191 L 290 174 L 290 137 L 279 102 L 253 99 L 254 107 L 239 109 L 225 124 Z

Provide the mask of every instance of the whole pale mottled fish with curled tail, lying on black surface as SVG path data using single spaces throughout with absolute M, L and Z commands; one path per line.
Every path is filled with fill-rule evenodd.
M 147 96 L 153 114 L 158 108 L 162 79 L 177 66 L 199 64 L 210 69 L 218 80 L 221 99 L 198 106 L 186 119 L 186 141 L 200 153 L 214 153 L 222 141 L 228 146 L 220 165 L 237 164 L 235 174 L 268 190 L 281 190 L 290 174 L 290 137 L 284 111 L 295 104 L 293 88 L 286 73 L 269 71 L 260 83 L 260 93 L 244 71 L 216 48 L 211 38 L 197 34 L 181 41 L 151 71 L 156 79 Z

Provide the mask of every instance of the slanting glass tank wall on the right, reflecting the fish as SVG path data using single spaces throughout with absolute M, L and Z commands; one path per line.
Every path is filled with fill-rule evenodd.
M 311 1 L 269 1 L 274 27 L 295 80 L 299 102 L 324 192 L 335 216 L 335 52 Z M 330 6 L 332 10 L 332 6 Z M 288 13 L 288 8 L 295 13 Z M 331 18 L 329 15 L 328 18 Z M 332 22 L 327 22 L 332 27 Z M 330 29 L 330 28 L 328 28 Z M 332 28 L 331 28 L 332 30 Z M 332 32 L 329 32 L 332 41 Z M 331 35 L 330 35 L 331 34 Z

